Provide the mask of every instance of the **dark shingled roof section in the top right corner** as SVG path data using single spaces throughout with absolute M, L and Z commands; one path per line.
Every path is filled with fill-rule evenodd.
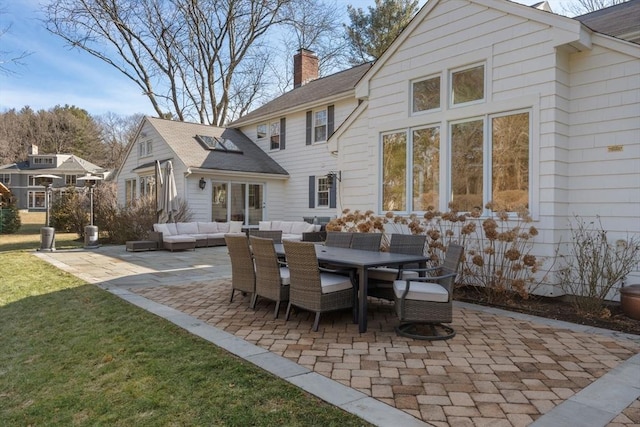
M 574 19 L 598 33 L 640 43 L 640 0 L 629 0 Z

